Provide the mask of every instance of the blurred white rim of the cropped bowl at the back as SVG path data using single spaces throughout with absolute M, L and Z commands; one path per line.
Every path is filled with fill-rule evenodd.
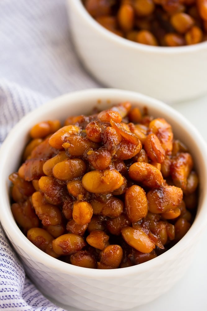
M 81 15 L 81 18 L 84 19 L 90 27 L 93 28 L 98 34 L 104 36 L 106 39 L 115 42 L 119 45 L 124 45 L 129 49 L 141 50 L 147 53 L 160 53 L 160 54 L 182 54 L 182 53 L 193 53 L 198 50 L 207 48 L 207 40 L 191 45 L 184 46 L 175 46 L 175 47 L 165 47 L 165 46 L 152 46 L 147 44 L 140 44 L 138 42 L 133 42 L 128 39 L 122 38 L 110 30 L 107 30 L 105 27 L 101 26 L 93 17 L 88 13 L 88 11 L 83 6 L 81 0 L 67 0 L 68 6 L 74 6 L 76 11 Z M 69 7 L 69 13 L 70 13 Z

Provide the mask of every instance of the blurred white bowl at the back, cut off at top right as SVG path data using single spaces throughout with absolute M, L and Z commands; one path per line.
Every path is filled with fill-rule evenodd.
M 168 104 L 207 93 L 207 41 L 183 47 L 139 44 L 99 25 L 81 0 L 67 4 L 77 53 L 104 86 L 137 91 Z

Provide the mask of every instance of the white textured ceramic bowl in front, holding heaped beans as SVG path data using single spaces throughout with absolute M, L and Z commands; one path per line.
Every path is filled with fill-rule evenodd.
M 15 171 L 28 140 L 29 129 L 39 121 L 72 114 L 88 114 L 121 101 L 145 106 L 155 117 L 164 117 L 176 137 L 189 147 L 199 174 L 199 206 L 187 234 L 171 249 L 133 267 L 97 270 L 76 267 L 52 258 L 34 246 L 19 230 L 11 214 L 8 176 Z M 0 219 L 25 270 L 43 294 L 81 310 L 125 310 L 146 304 L 169 290 L 186 272 L 202 229 L 207 223 L 207 147 L 199 132 L 181 114 L 158 100 L 130 91 L 93 89 L 61 96 L 27 114 L 11 130 L 0 149 Z M 70 309 L 70 308 L 69 308 Z

